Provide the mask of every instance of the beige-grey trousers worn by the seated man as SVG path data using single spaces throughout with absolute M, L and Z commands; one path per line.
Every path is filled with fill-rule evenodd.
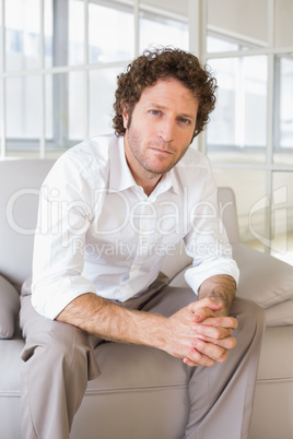
M 165 285 L 166 280 L 159 277 L 143 296 L 120 305 L 171 316 L 197 299 L 190 288 Z M 234 332 L 237 345 L 226 361 L 212 368 L 186 366 L 190 411 L 178 439 L 248 438 L 265 313 L 251 301 L 235 299 L 231 316 L 239 325 Z M 31 305 L 30 290 L 22 296 L 21 328 L 26 341 L 22 438 L 68 439 L 87 380 L 99 373 L 93 351 L 101 341 L 39 316 Z

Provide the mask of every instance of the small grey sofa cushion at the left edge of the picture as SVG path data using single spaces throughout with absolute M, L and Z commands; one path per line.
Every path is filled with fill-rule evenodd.
M 16 288 L 1 275 L 0 302 L 0 339 L 11 339 L 20 310 L 20 296 Z

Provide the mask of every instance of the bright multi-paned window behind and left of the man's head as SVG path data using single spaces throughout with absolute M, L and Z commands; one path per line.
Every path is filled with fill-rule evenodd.
M 136 51 L 188 49 L 187 17 L 164 0 L 2 2 L 2 156 L 58 156 L 108 132 L 117 75 Z

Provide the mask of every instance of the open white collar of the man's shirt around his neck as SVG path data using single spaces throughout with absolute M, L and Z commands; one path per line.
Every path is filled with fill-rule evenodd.
M 122 191 L 125 189 L 136 187 L 136 180 L 128 167 L 125 156 L 124 137 L 119 137 L 116 142 L 112 143 L 109 149 L 109 190 Z M 174 192 L 179 194 L 179 183 L 175 168 L 165 174 L 155 189 L 160 188 L 160 192 L 165 192 L 173 188 Z

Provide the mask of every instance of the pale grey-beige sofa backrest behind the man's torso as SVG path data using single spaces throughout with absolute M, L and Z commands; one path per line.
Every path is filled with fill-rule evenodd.
M 54 159 L 0 161 L 0 274 L 16 287 L 31 275 L 34 229 L 37 220 L 38 190 Z M 237 214 L 234 193 L 220 188 L 219 210 L 231 242 L 238 240 Z M 166 257 L 164 268 L 173 277 L 189 263 L 183 246 L 180 258 Z

